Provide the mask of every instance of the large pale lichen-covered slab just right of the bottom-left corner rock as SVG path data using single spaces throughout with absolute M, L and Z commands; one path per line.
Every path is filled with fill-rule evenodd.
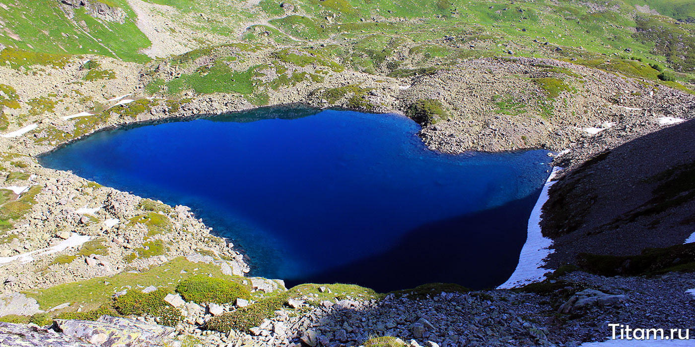
M 174 328 L 112 316 L 97 321 L 56 319 L 54 327 L 67 336 L 109 347 L 162 346 L 176 335 Z

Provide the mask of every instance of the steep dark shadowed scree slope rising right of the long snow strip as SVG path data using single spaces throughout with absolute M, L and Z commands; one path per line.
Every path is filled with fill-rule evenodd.
M 695 231 L 695 121 L 596 155 L 550 189 L 543 235 L 552 267 L 578 253 L 633 255 L 682 244 Z

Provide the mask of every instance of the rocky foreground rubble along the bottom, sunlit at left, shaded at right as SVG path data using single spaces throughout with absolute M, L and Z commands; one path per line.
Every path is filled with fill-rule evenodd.
M 206 330 L 213 317 L 240 307 L 167 302 L 185 317 L 175 327 L 152 317 L 96 321 L 56 319 L 51 325 L 0 323 L 6 346 L 580 346 L 602 341 L 609 323 L 634 328 L 695 329 L 692 274 L 615 278 L 575 272 L 525 289 L 467 292 L 428 288 L 379 300 L 305 287 L 258 327 Z M 279 289 L 281 290 L 281 289 Z M 333 290 L 336 290 L 334 287 Z M 330 298 L 330 297 L 333 298 Z M 236 306 L 244 307 L 245 302 Z M 393 337 L 389 345 L 371 344 Z

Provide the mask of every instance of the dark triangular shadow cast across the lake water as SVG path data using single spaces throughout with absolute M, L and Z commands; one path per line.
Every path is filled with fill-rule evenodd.
M 386 253 L 286 283 L 288 287 L 307 282 L 352 283 L 381 293 L 430 282 L 456 282 L 471 289 L 496 287 L 516 268 L 540 192 L 498 208 L 420 226 Z

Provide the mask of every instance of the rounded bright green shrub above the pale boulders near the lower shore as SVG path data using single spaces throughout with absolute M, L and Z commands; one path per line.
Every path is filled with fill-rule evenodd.
M 192 276 L 176 288 L 186 301 L 195 303 L 231 303 L 236 298 L 250 298 L 249 289 L 230 280 L 208 276 Z

